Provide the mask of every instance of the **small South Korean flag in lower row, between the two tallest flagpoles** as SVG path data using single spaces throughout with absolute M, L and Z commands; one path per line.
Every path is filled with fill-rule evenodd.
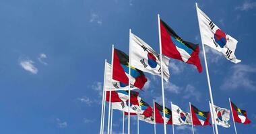
M 174 125 L 191 125 L 191 114 L 172 104 L 172 123 Z

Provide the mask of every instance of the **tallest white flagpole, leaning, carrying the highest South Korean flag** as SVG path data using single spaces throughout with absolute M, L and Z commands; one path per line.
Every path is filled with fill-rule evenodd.
M 195 3 L 195 7 L 198 8 L 197 7 L 197 3 Z M 201 36 L 201 45 L 202 45 L 202 48 L 203 48 L 203 57 L 204 57 L 204 62 L 205 62 L 205 71 L 206 71 L 207 83 L 208 83 L 210 100 L 211 100 L 211 107 L 212 107 L 212 111 L 211 112 L 213 113 L 213 110 L 214 110 L 214 98 L 212 97 L 212 87 L 211 87 L 210 76 L 209 76 L 208 66 L 207 66 L 207 60 L 206 60 L 206 55 L 205 55 L 205 50 L 204 50 L 204 45 L 203 45 L 203 40 L 202 40 L 202 35 L 201 35 L 201 28 L 200 28 L 198 11 L 197 11 L 197 19 L 198 19 L 200 36 Z M 214 115 L 213 115 L 213 117 L 215 119 Z M 216 124 L 215 120 L 214 120 L 214 127 L 215 127 L 215 133 L 218 134 L 218 127 L 217 127 L 217 124 Z

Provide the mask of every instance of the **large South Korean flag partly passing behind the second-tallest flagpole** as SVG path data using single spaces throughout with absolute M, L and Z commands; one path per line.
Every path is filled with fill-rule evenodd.
M 131 66 L 143 72 L 161 76 L 160 55 L 156 53 L 146 42 L 131 33 Z M 162 56 L 162 68 L 164 80 L 169 79 L 169 58 Z

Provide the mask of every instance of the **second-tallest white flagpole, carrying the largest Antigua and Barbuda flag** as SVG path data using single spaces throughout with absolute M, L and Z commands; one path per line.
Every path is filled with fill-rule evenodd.
M 162 107 L 164 113 L 164 134 L 166 134 L 166 121 L 165 121 L 165 103 L 164 103 L 164 76 L 162 72 L 162 41 L 160 31 L 160 15 L 158 14 L 158 36 L 159 36 L 159 47 L 160 47 L 160 64 L 161 64 L 161 82 L 162 82 Z

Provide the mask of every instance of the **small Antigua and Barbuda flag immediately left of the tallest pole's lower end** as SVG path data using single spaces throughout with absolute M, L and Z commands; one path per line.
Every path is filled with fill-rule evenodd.
M 199 111 L 195 106 L 191 105 L 191 116 L 193 119 L 193 125 L 211 125 L 210 112 Z

